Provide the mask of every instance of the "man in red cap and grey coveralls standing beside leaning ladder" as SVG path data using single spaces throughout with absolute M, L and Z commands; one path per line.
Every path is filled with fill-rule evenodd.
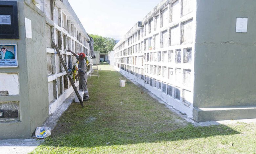
M 76 59 L 79 61 L 78 63 L 78 76 L 79 76 L 79 90 L 84 90 L 84 98 L 83 101 L 89 100 L 89 92 L 87 88 L 87 65 L 85 61 L 85 54 L 79 53 L 78 55 L 71 50 L 67 50 L 68 52 L 71 52 Z

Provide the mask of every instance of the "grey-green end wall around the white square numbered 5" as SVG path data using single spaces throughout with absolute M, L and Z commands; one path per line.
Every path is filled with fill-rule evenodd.
M 194 107 L 256 105 L 255 14 L 254 0 L 197 0 Z

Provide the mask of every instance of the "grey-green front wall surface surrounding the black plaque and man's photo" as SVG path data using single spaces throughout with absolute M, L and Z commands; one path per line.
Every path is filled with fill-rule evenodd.
M 18 16 L 19 16 L 19 36 L 20 39 L 1 39 L 1 43 L 17 43 L 18 68 L 1 68 L 1 73 L 18 73 L 19 77 L 19 95 L 16 96 L 1 96 L 1 101 L 19 101 L 20 122 L 15 123 L 0 123 L 0 139 L 5 138 L 22 138 L 31 135 L 30 129 L 30 110 L 28 99 L 28 76 L 27 76 L 27 53 L 25 43 L 25 17 L 24 3 L 18 1 Z M 17 133 L 18 132 L 18 133 Z

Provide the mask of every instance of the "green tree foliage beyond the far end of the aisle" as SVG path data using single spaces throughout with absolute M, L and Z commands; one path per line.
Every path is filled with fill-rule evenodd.
M 94 51 L 100 51 L 100 53 L 108 53 L 112 51 L 116 45 L 116 41 L 113 38 L 102 37 L 99 35 L 90 34 L 94 40 Z

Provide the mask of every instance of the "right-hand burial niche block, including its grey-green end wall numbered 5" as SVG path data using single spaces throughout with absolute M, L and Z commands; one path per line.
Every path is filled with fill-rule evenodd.
M 256 118 L 254 3 L 163 0 L 114 47 L 114 66 L 195 121 Z

